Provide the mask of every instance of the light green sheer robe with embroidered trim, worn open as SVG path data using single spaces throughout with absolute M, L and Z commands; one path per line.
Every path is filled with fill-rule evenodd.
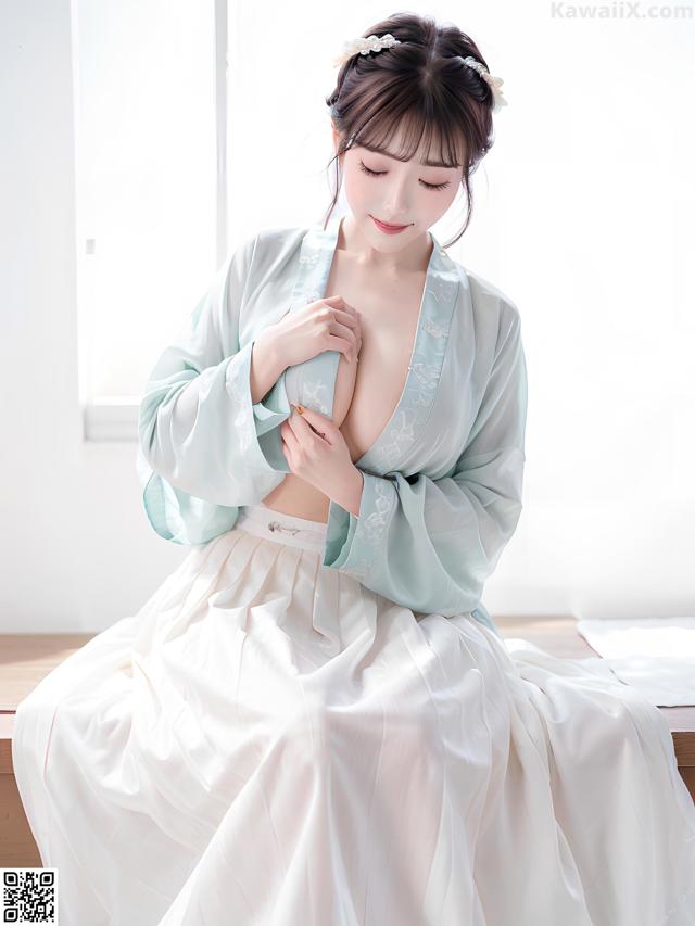
M 178 544 L 229 531 L 290 472 L 290 401 L 331 416 L 340 353 L 289 367 L 253 404 L 254 339 L 326 293 L 339 219 L 276 228 L 225 262 L 146 384 L 138 472 L 154 530 Z M 356 461 L 359 515 L 331 500 L 324 566 L 416 613 L 470 613 L 496 631 L 483 585 L 521 513 L 527 372 L 520 317 L 432 236 L 405 386 Z

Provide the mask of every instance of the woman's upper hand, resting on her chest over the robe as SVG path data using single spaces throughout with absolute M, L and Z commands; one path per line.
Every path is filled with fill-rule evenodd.
M 324 351 L 339 351 L 353 364 L 362 347 L 359 314 L 341 295 L 287 312 L 278 322 L 265 328 L 262 335 L 273 344 L 282 370 L 311 360 Z

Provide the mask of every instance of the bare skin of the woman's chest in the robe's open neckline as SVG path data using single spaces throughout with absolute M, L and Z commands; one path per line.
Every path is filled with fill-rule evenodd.
M 341 295 L 359 313 L 359 363 L 338 365 L 333 419 L 353 461 L 369 449 L 391 420 L 406 384 L 417 334 L 425 272 L 378 274 L 338 259 L 326 295 Z

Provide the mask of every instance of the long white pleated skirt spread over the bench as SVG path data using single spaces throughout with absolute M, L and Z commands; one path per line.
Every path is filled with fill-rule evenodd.
M 693 926 L 668 725 L 242 508 L 21 702 L 61 926 Z

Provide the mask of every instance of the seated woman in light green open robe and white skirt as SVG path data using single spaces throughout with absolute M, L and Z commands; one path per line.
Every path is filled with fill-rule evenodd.
M 63 924 L 695 922 L 660 712 L 481 602 L 520 317 L 428 229 L 502 101 L 456 27 L 367 30 L 327 101 L 349 214 L 244 241 L 157 361 L 144 507 L 192 549 L 16 718 Z

